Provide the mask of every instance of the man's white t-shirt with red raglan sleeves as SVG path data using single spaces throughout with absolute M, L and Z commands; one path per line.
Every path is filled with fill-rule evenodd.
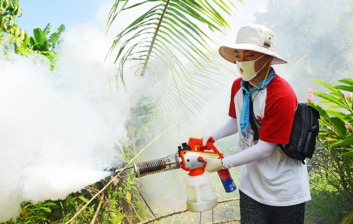
M 243 107 L 241 80 L 236 79 L 232 87 L 229 115 L 235 119 L 240 118 Z M 259 139 L 287 144 L 297 107 L 292 87 L 276 75 L 263 93 L 252 93 L 251 99 L 255 117 L 261 122 Z M 239 120 L 238 130 L 241 129 Z M 239 137 L 243 138 L 241 131 Z M 234 166 L 232 161 L 236 156 L 223 159 L 227 167 Z M 243 165 L 239 189 L 254 200 L 271 206 L 296 205 L 311 199 L 306 165 L 289 158 L 278 147 L 265 159 Z

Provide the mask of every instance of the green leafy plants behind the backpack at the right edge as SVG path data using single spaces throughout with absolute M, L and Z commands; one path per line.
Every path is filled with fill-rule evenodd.
M 341 201 L 353 206 L 353 102 L 352 97 L 346 97 L 341 92 L 341 90 L 353 90 L 353 79 L 338 80 L 347 85 L 337 86 L 319 80 L 314 80 L 314 82 L 331 92 L 314 92 L 314 95 L 323 99 L 317 104 L 308 103 L 319 111 L 321 118 L 318 136 L 321 146 L 316 151 L 314 162 L 308 167 L 311 165 L 319 167 L 312 171 L 326 179 L 326 184 L 334 189 Z M 323 109 L 319 104 L 325 104 L 326 108 Z M 314 185 L 316 183 L 312 182 Z M 324 203 L 319 204 L 322 206 Z

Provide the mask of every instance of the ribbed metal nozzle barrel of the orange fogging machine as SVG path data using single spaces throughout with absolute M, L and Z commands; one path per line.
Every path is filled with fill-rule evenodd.
M 180 167 L 181 159 L 177 154 L 169 155 L 168 157 L 161 159 L 134 164 L 136 177 L 143 177 L 148 174 L 179 169 Z

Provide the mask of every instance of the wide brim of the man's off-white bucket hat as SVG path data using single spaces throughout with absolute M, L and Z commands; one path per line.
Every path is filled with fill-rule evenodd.
M 287 63 L 287 61 L 285 61 L 281 56 L 279 56 L 273 50 L 270 50 L 268 48 L 265 48 L 265 47 L 257 45 L 257 44 L 251 44 L 251 43 L 238 43 L 238 44 L 231 44 L 231 45 L 227 45 L 227 46 L 220 46 L 219 47 L 219 54 L 227 61 L 235 63 L 234 50 L 236 50 L 236 49 L 238 49 L 238 50 L 251 50 L 251 51 L 256 51 L 256 52 L 260 52 L 260 53 L 264 53 L 264 54 L 273 56 L 271 65 L 286 64 Z

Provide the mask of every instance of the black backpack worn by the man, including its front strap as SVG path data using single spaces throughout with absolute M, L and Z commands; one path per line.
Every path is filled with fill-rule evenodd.
M 250 124 L 255 131 L 254 139 L 259 140 L 259 130 L 255 123 L 253 104 L 250 100 Z M 298 103 L 297 110 L 294 113 L 294 121 L 290 130 L 288 144 L 278 144 L 278 147 L 290 158 L 298 159 L 305 164 L 304 159 L 313 156 L 316 145 L 316 137 L 319 134 L 319 112 L 305 103 Z M 261 123 L 258 121 L 258 124 Z

